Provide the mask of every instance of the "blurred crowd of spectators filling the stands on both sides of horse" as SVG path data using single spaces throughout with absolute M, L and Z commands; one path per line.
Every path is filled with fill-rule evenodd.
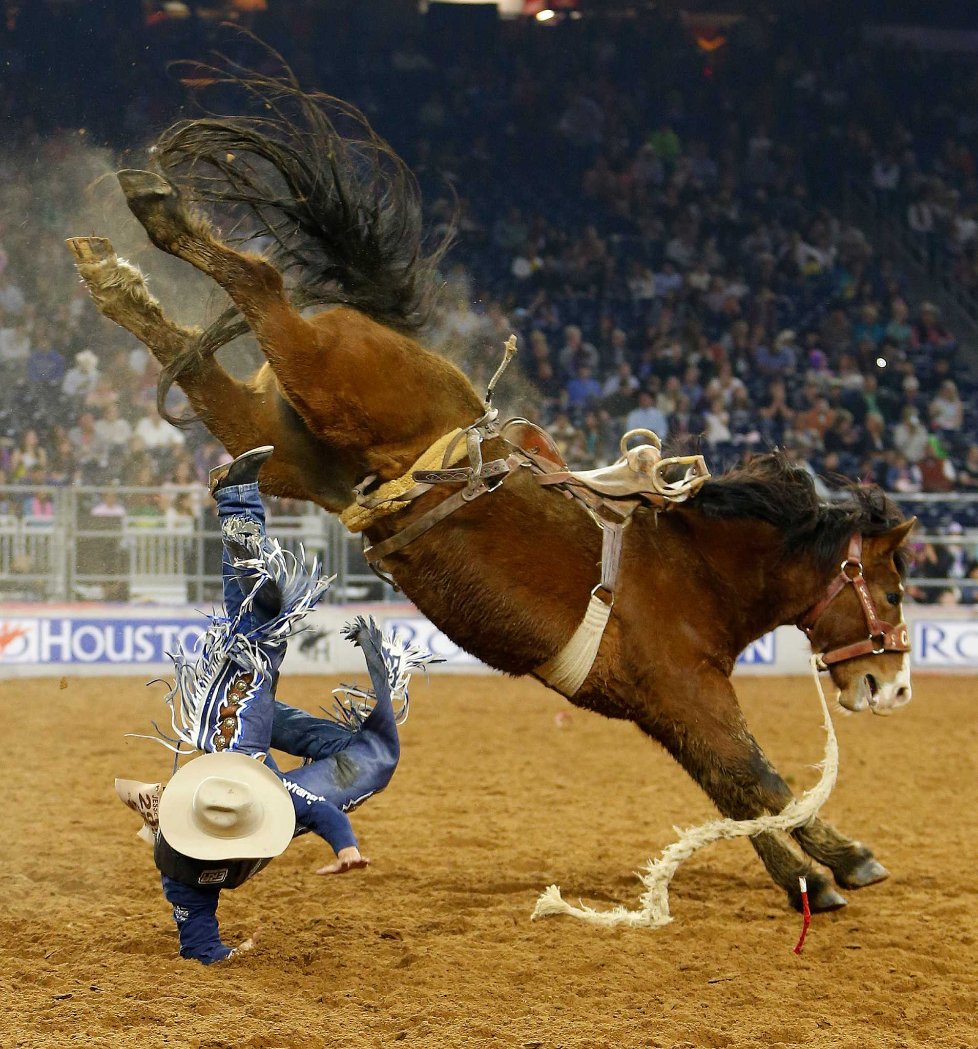
M 933 212 L 963 179 L 957 207 L 971 226 L 954 228 L 966 234 L 955 234 L 961 258 L 972 251 L 975 128 L 962 111 L 934 153 L 912 108 L 898 125 L 878 109 L 872 127 L 847 123 L 889 52 L 863 61 L 841 46 L 829 60 L 801 43 L 775 48 L 750 25 L 704 70 L 677 22 L 588 20 L 549 36 L 512 23 L 480 61 L 410 37 L 367 41 L 352 58 L 333 38 L 299 47 L 316 27 L 303 37 L 285 23 L 288 39 L 271 24 L 267 35 L 306 83 L 350 98 L 394 141 L 433 231 L 451 214 L 446 181 L 458 195 L 460 243 L 430 341 L 484 384 L 515 333 L 525 382 L 510 397 L 575 467 L 609 462 L 623 430 L 644 427 L 702 435 L 715 469 L 781 447 L 826 495 L 836 475 L 908 497 L 978 493 L 976 388 L 955 331 L 831 196 L 844 156 L 853 172 L 870 166 L 887 207 L 887 193 L 910 193 L 908 216 Z M 136 31 L 149 30 L 107 35 L 102 74 L 132 86 L 114 124 L 111 95 L 95 110 L 86 98 L 84 113 L 60 99 L 52 115 L 23 80 L 0 86 L 0 110 L 19 119 L 0 147 L 12 187 L 0 201 L 0 486 L 24 486 L 22 497 L 0 489 L 0 514 L 43 520 L 54 505 L 38 486 L 81 483 L 108 490 L 91 497 L 92 515 L 172 523 L 197 511 L 199 492 L 165 488 L 201 485 L 222 456 L 201 428 L 160 420 L 155 362 L 98 315 L 62 243 L 99 168 L 81 132 L 119 150 L 176 115 L 163 64 L 189 44 L 154 39 L 136 83 Z M 914 62 L 923 76 L 926 60 Z M 954 86 L 960 101 L 972 81 L 958 70 Z M 155 491 L 115 496 L 115 485 Z M 978 505 L 908 509 L 929 531 L 978 526 Z M 978 600 L 972 553 L 963 539 L 919 543 L 918 575 L 961 582 L 916 596 Z

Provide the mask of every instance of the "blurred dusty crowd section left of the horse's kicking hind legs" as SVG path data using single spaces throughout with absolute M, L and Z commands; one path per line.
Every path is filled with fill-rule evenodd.
M 38 245 L 37 231 L 31 249 Z M 13 240 L 13 242 L 12 242 Z M 197 485 L 222 456 L 212 441 L 165 423 L 156 410 L 158 365 L 131 339 L 107 327 L 67 266 L 63 278 L 29 279 L 16 238 L 0 252 L 0 515 L 43 522 L 55 514 L 42 486 L 153 488 L 157 494 L 88 499 L 95 516 L 126 514 L 175 523 L 196 512 Z M 7 251 L 9 244 L 13 251 Z M 50 247 L 55 247 L 51 244 Z M 179 399 L 174 399 L 179 408 Z M 17 495 L 23 486 L 24 495 Z M 175 491 L 171 491 L 175 490 Z

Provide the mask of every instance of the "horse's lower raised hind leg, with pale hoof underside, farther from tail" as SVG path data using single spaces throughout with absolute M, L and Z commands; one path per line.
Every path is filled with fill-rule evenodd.
M 174 323 L 150 295 L 140 270 L 120 259 L 104 237 L 67 241 L 78 271 L 100 313 L 135 336 L 164 366 L 188 362 L 177 382 L 210 432 L 232 455 L 257 445 L 275 445 L 261 471 L 262 490 L 272 495 L 313 498 L 317 442 L 282 402 L 265 366 L 238 382 L 213 357 L 195 351 L 199 331 Z M 321 447 L 320 447 L 321 451 Z

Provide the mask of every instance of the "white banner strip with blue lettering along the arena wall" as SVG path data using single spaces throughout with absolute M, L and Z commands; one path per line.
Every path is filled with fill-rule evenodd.
M 341 637 L 358 615 L 374 616 L 444 662 L 434 671 L 486 673 L 490 668 L 461 649 L 409 604 L 325 605 L 312 613 L 306 628 L 289 645 L 285 673 L 356 673 L 359 651 Z M 910 607 L 907 619 L 916 669 L 978 672 L 978 616 L 968 608 Z M 194 651 L 207 627 L 193 607 L 149 605 L 0 604 L 0 679 L 41 676 L 166 676 L 168 654 L 177 645 Z M 804 635 L 780 627 L 749 645 L 737 661 L 738 673 L 796 675 L 808 670 Z

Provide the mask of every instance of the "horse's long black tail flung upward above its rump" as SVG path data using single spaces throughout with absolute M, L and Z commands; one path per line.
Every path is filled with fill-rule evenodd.
M 301 90 L 275 58 L 280 77 L 227 59 L 208 67 L 207 79 L 237 93 L 249 115 L 180 121 L 156 144 L 158 167 L 197 200 L 243 210 L 238 242 L 270 242 L 269 259 L 290 275 L 297 307 L 342 303 L 417 331 L 454 223 L 426 248 L 421 191 L 407 165 L 359 109 Z M 225 318 L 204 345 L 228 341 L 232 330 Z

